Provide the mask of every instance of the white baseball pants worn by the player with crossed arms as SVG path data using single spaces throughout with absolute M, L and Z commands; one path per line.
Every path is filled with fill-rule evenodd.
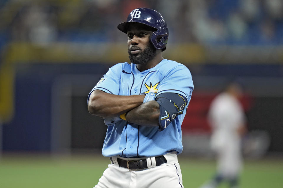
M 119 156 L 112 157 L 113 164 L 108 165 L 98 184 L 93 188 L 184 188 L 180 165 L 175 153 L 164 155 L 167 163 L 160 166 L 150 167 L 152 166 L 149 164 L 151 157 L 148 157 L 147 165 L 150 168 L 137 171 L 119 167 L 117 157 Z M 131 158 L 131 160 L 140 159 L 147 158 Z

